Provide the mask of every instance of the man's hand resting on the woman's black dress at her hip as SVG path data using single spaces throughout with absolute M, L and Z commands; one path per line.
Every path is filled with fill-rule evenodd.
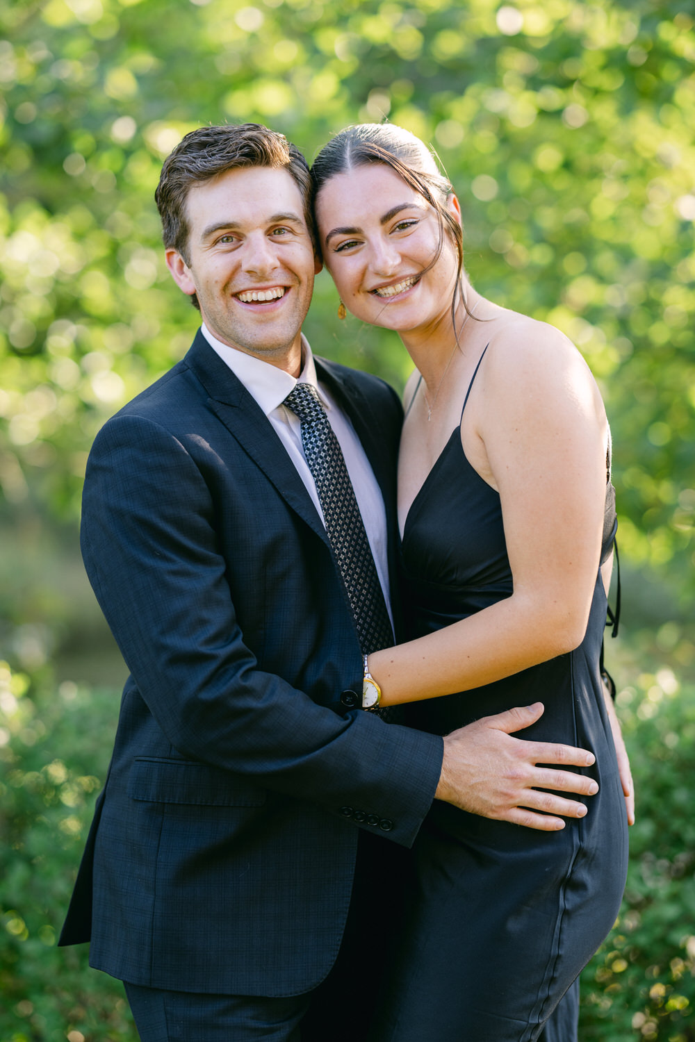
M 566 818 L 582 818 L 584 803 L 539 789 L 593 796 L 593 778 L 537 764 L 591 767 L 595 756 L 586 749 L 546 742 L 525 742 L 512 734 L 529 727 L 543 715 L 543 703 L 483 717 L 444 739 L 444 762 L 436 798 L 483 818 L 510 821 L 542 832 L 565 827 Z M 538 813 L 543 812 L 543 813 Z

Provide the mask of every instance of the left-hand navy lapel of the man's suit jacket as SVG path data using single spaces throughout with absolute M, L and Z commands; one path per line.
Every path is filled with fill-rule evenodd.
M 329 546 L 326 530 L 312 497 L 272 424 L 200 330 L 183 362 L 207 392 L 208 406 L 247 455 L 254 461 L 292 510 Z

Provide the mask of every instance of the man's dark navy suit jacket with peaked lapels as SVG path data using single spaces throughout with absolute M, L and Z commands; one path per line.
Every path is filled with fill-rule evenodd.
M 373 376 L 317 371 L 395 531 L 398 399 Z M 412 844 L 442 740 L 358 709 L 325 529 L 200 332 L 98 435 L 81 541 L 130 676 L 60 943 L 91 940 L 91 964 L 134 984 L 311 990 L 338 952 L 359 829 Z

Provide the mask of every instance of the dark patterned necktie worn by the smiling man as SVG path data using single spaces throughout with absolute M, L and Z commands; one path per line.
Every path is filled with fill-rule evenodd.
M 326 531 L 352 609 L 363 654 L 391 647 L 393 629 L 343 452 L 311 383 L 282 402 L 301 420 L 304 456 L 316 482 Z

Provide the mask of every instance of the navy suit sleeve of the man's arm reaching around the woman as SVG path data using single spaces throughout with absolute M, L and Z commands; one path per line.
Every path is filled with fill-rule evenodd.
M 174 749 L 336 814 L 362 809 L 372 819 L 364 827 L 388 822 L 391 839 L 413 842 L 439 780 L 441 738 L 362 711 L 339 716 L 258 668 L 200 461 L 169 430 L 135 416 L 102 429 L 81 544 L 101 609 Z

